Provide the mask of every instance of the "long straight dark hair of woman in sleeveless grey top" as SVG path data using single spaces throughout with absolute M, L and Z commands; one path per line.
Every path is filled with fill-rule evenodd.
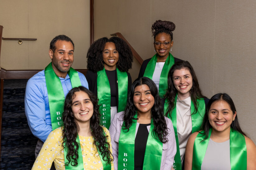
M 226 94 L 226 93 L 218 93 L 214 96 L 211 97 L 211 99 L 209 100 L 207 106 L 206 106 L 206 114 L 204 115 L 204 119 L 203 119 L 203 123 L 201 125 L 201 130 L 204 130 L 204 133 L 201 133 L 202 135 L 206 135 L 206 137 L 203 140 L 206 140 L 208 138 L 209 135 L 209 129 L 212 128 L 210 122 L 209 122 L 209 110 L 211 108 L 211 105 L 216 102 L 216 101 L 225 101 L 229 104 L 230 109 L 233 112 L 233 115 L 236 112 L 235 109 L 235 104 L 233 102 L 233 100 L 231 99 L 231 97 Z M 238 122 L 238 117 L 237 117 L 237 113 L 236 113 L 236 117 L 235 120 L 231 123 L 230 127 L 232 127 L 234 130 L 240 132 L 241 134 L 243 134 L 244 136 L 247 136 L 241 129 L 239 122 Z

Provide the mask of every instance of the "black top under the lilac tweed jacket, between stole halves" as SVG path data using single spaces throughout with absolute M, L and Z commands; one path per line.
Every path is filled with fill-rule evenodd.
M 142 170 L 146 145 L 148 141 L 149 131 L 147 129 L 149 124 L 140 124 L 134 143 L 134 170 Z

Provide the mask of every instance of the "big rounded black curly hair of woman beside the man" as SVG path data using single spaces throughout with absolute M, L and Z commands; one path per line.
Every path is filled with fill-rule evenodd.
M 112 42 L 116 46 L 116 50 L 119 53 L 119 64 L 116 65 L 116 67 L 124 72 L 131 69 L 131 65 L 133 62 L 133 55 L 131 52 L 130 47 L 127 45 L 127 43 L 118 37 L 111 37 L 111 38 L 100 38 L 97 39 L 89 48 L 87 52 L 87 69 L 92 70 L 93 72 L 100 71 L 104 68 L 103 57 L 102 52 L 104 50 L 104 47 L 106 43 Z

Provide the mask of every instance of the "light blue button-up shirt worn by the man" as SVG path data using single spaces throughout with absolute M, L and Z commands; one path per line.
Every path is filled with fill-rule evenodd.
M 78 72 L 82 86 L 88 88 L 88 82 L 82 73 Z M 64 96 L 72 89 L 69 75 L 66 78 L 59 77 Z M 54 82 L 53 82 L 54 83 Z M 42 70 L 30 78 L 25 92 L 25 114 L 28 125 L 34 136 L 45 142 L 52 131 L 51 115 L 48 93 L 45 82 L 45 70 Z

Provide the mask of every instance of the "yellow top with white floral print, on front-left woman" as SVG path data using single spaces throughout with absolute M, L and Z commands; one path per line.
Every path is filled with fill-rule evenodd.
M 107 137 L 107 142 L 110 144 L 111 148 L 111 139 L 109 131 L 106 127 L 102 127 L 105 131 Z M 62 146 L 63 136 L 62 136 L 61 127 L 52 131 L 47 137 L 42 149 L 40 150 L 36 161 L 32 167 L 32 170 L 36 169 L 47 169 L 51 168 L 52 163 L 54 162 L 56 170 L 65 169 L 64 161 L 64 148 Z M 103 165 L 98 154 L 98 150 L 95 145 L 93 145 L 93 137 L 84 137 L 79 136 L 82 155 L 83 155 L 83 168 L 93 169 L 93 170 L 103 170 Z M 113 162 L 111 163 L 111 170 L 114 169 Z

